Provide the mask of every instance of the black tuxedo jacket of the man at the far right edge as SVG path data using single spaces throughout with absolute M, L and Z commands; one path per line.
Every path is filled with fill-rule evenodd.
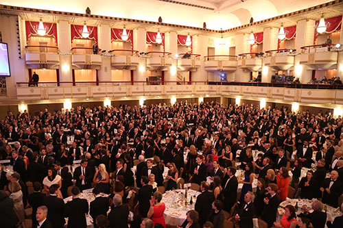
M 329 194 L 327 193 L 325 188 L 329 188 L 330 182 L 331 179 L 327 178 L 324 180 L 324 184 L 322 185 L 322 187 L 324 188 L 324 192 L 322 195 L 322 203 L 327 203 L 328 205 L 337 207 L 338 197 L 340 197 L 340 194 L 342 194 L 343 186 L 340 181 L 336 180 L 331 186 Z

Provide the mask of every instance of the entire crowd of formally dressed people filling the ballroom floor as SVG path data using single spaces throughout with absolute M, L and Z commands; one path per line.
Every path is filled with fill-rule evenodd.
M 86 214 L 95 227 L 165 227 L 159 187 L 174 190 L 180 179 L 201 192 L 181 227 L 221 228 L 229 219 L 245 228 L 253 218 L 268 227 L 343 227 L 342 216 L 327 223 L 322 212 L 324 205 L 343 210 L 343 126 L 331 113 L 187 101 L 75 107 L 10 112 L 0 132 L 0 160 L 13 167 L 6 173 L 0 165 L 1 227 L 25 227 L 28 207 L 33 227 L 64 227 L 65 218 L 68 227 L 86 227 Z M 313 199 L 314 212 L 296 215 L 287 205 L 276 223 L 289 186 Z M 88 205 L 80 192 L 89 188 Z

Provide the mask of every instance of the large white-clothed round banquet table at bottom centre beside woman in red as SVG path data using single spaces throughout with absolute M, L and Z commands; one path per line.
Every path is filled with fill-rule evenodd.
M 186 213 L 189 210 L 194 210 L 194 206 L 196 205 L 196 197 L 201 192 L 197 192 L 195 190 L 187 190 L 187 207 L 185 206 L 185 189 L 178 189 L 167 191 L 163 194 L 162 201 L 165 203 L 165 224 L 168 225 L 182 225 L 182 223 L 186 220 Z M 193 203 L 189 203 L 191 201 L 191 197 L 193 197 Z

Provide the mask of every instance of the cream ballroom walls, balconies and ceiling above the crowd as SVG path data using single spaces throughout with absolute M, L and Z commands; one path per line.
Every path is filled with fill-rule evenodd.
M 1 118 L 178 101 L 343 113 L 342 0 L 0 3 Z

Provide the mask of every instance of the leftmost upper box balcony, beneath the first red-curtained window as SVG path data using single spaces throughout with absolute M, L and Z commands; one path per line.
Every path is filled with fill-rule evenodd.
M 58 68 L 60 56 L 58 47 L 26 46 L 25 62 L 29 68 Z

